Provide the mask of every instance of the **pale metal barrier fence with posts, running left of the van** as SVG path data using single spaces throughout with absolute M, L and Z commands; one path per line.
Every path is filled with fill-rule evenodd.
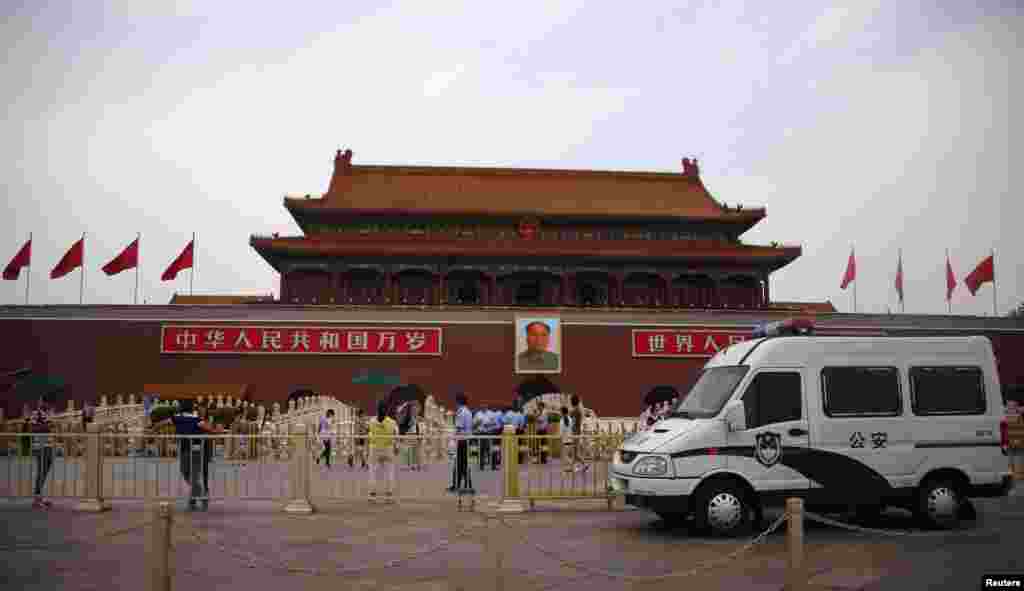
M 516 434 L 466 438 L 469 478 L 456 490 L 457 438 L 288 433 L 179 436 L 166 433 L 0 433 L 0 497 L 76 498 L 84 510 L 122 499 L 279 500 L 310 512 L 314 502 L 441 500 L 452 494 L 506 502 L 613 499 L 608 463 L 623 435 Z M 329 467 L 330 465 L 330 467 Z

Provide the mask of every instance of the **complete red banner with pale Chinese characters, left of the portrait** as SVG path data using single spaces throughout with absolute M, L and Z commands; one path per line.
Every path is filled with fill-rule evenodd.
M 440 355 L 441 329 L 164 325 L 160 352 Z

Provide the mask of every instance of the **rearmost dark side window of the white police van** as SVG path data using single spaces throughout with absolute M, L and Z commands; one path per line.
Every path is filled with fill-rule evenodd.
M 981 368 L 910 368 L 913 414 L 984 415 Z

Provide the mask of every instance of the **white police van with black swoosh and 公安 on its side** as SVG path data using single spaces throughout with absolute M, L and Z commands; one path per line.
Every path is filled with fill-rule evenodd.
M 973 516 L 970 498 L 1009 493 L 987 338 L 814 336 L 801 319 L 754 336 L 615 453 L 608 483 L 627 504 L 738 535 L 791 497 L 861 517 L 903 507 L 950 527 Z

